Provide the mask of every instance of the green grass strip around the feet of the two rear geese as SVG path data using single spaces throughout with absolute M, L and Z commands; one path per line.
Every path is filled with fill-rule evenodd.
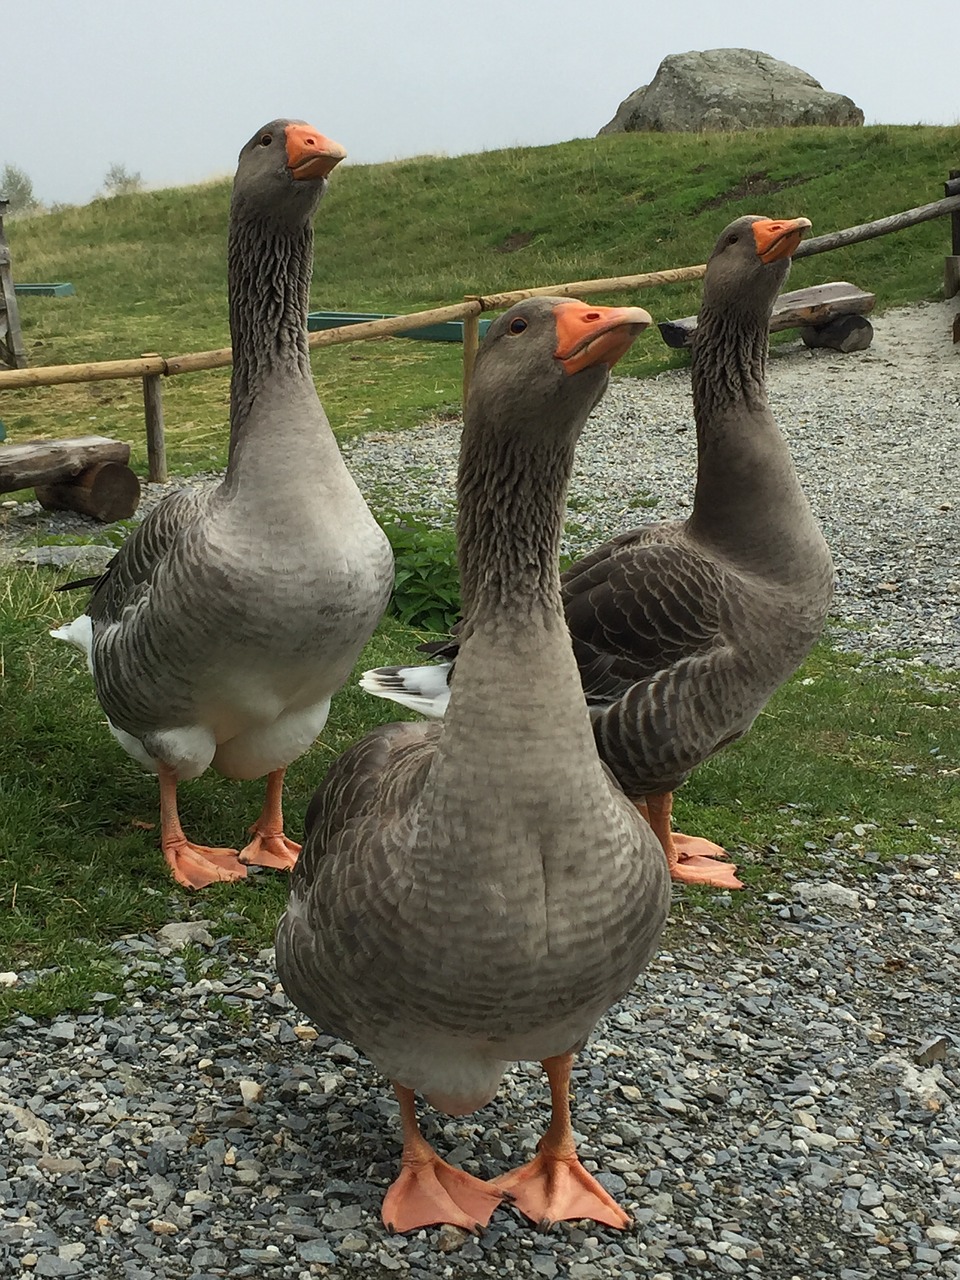
M 29 986 L 0 989 L 0 1021 L 82 1009 L 93 992 L 120 995 L 109 943 L 201 914 L 255 954 L 269 946 L 285 881 L 259 873 L 202 895 L 169 879 L 157 847 L 156 782 L 108 733 L 79 654 L 46 628 L 70 616 L 54 575 L 0 576 L 0 663 L 5 692 L 0 739 L 0 969 L 41 970 Z M 358 666 L 416 660 L 422 637 L 381 623 Z M 874 664 L 876 666 L 876 664 Z M 960 676 L 909 669 L 890 675 L 827 646 L 759 717 L 746 739 L 696 771 L 677 800 L 678 826 L 705 831 L 741 860 L 749 891 L 718 900 L 685 891 L 692 910 L 723 931 L 749 933 L 758 893 L 781 888 L 786 870 L 818 860 L 808 844 L 833 842 L 858 868 L 960 844 Z M 332 760 L 399 708 L 351 682 L 334 700 L 323 740 L 288 773 L 296 833 Z M 200 840 L 242 840 L 262 783 L 207 773 L 180 788 L 187 829 Z M 873 823 L 864 837 L 858 823 Z M 858 847 L 859 846 L 859 847 Z M 187 956 L 200 974 L 201 959 Z

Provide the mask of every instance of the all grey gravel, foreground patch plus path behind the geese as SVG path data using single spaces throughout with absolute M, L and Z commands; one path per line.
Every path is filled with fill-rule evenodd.
M 860 355 L 791 344 L 771 361 L 837 558 L 835 639 L 943 667 L 960 666 L 954 311 L 882 316 Z M 367 436 L 349 461 L 361 486 L 439 513 L 456 448 L 438 425 Z M 572 548 L 682 513 L 691 467 L 687 375 L 614 383 L 581 448 Z M 6 517 L 8 549 L 90 527 L 32 504 Z M 812 851 L 806 881 L 785 873 L 758 900 L 755 942 L 731 938 L 718 896 L 685 948 L 660 951 L 575 1076 L 581 1155 L 632 1212 L 625 1233 L 541 1234 L 499 1210 L 476 1239 L 387 1235 L 396 1103 L 351 1046 L 300 1023 L 271 952 L 251 961 L 196 920 L 124 938 L 119 1006 L 0 1030 L 0 1274 L 960 1277 L 955 854 L 932 837 L 882 867 L 858 824 Z M 547 1096 L 525 1064 L 489 1107 L 426 1111 L 425 1129 L 495 1175 L 529 1158 Z

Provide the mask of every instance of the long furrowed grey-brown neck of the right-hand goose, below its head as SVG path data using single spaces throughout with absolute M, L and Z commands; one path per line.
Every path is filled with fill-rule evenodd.
M 768 314 L 704 307 L 691 381 L 698 472 L 694 535 L 776 568 L 809 543 L 813 518 L 765 389 Z

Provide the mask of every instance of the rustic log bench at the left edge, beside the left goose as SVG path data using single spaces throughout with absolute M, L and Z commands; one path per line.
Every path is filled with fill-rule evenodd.
M 0 444 L 0 493 L 33 489 L 47 509 L 125 520 L 140 504 L 129 457 L 129 444 L 104 435 Z

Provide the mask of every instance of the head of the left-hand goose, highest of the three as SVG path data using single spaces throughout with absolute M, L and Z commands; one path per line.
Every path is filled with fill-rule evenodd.
M 241 150 L 232 214 L 294 227 L 312 219 L 347 152 L 303 120 L 271 120 Z

